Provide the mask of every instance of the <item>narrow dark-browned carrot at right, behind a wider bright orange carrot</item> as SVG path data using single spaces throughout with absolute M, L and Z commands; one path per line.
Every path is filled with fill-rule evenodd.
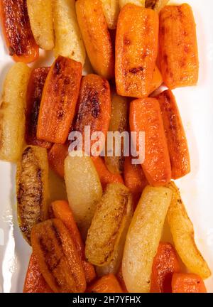
M 173 92 L 170 90 L 166 90 L 156 98 L 160 104 L 163 118 L 163 126 L 170 154 L 172 178 L 178 179 L 190 173 L 190 154 L 178 105 Z

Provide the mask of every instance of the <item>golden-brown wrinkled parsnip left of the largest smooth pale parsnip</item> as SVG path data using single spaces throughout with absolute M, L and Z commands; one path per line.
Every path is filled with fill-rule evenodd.
M 90 263 L 106 266 L 113 261 L 114 270 L 119 269 L 132 208 L 131 193 L 125 185 L 107 185 L 87 234 L 85 255 Z

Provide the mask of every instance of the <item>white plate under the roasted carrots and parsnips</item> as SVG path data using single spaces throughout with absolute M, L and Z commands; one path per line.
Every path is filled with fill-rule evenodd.
M 172 2 L 172 1 L 171 1 Z M 195 226 L 198 247 L 213 272 L 213 1 L 186 0 L 197 23 L 200 80 L 197 87 L 175 90 L 190 147 L 192 172 L 178 181 L 187 212 Z M 175 0 L 175 4 L 183 1 Z M 1 34 L 1 33 L 0 33 Z M 0 36 L 0 87 L 13 61 Z M 44 56 L 35 65 L 52 62 Z M 0 161 L 0 292 L 22 292 L 31 254 L 18 229 L 15 195 L 16 166 Z M 213 292 L 213 277 L 206 281 Z

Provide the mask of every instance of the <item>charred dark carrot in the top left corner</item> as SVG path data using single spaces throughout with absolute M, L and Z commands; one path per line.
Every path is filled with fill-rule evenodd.
M 16 62 L 31 63 L 38 58 L 28 17 L 26 0 L 1 0 L 0 18 L 9 54 Z

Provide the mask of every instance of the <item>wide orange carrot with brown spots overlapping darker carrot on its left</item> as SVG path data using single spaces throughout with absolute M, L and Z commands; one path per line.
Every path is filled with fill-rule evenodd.
M 65 143 L 75 114 L 82 64 L 59 56 L 48 73 L 38 116 L 37 138 Z

